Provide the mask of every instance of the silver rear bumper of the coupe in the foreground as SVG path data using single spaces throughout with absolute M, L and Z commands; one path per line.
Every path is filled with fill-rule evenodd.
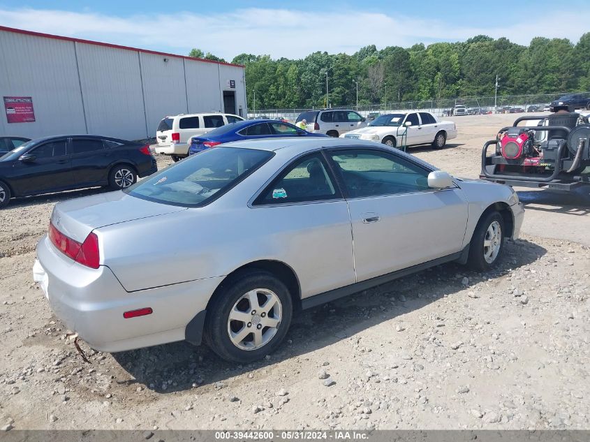
M 43 237 L 37 245 L 34 280 L 54 314 L 98 351 L 117 352 L 186 339 L 186 326 L 205 310 L 222 277 L 127 292 L 109 267 L 84 267 Z M 152 314 L 124 318 L 151 307 Z M 193 332 L 194 333 L 194 332 Z M 195 341 L 195 339 L 191 339 Z

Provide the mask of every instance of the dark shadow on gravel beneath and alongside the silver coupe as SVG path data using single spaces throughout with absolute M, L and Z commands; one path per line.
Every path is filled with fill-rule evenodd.
M 254 378 L 266 376 L 265 367 L 348 339 L 378 323 L 469 289 L 474 283 L 501 277 L 512 269 L 534 263 L 546 250 L 532 242 L 517 240 L 507 242 L 505 252 L 499 267 L 492 272 L 479 274 L 455 263 L 439 265 L 299 312 L 295 314 L 286 340 L 279 350 L 253 364 L 226 362 L 207 346 L 195 347 L 186 342 L 114 353 L 113 358 L 131 375 L 130 380 L 119 381 L 119 384 L 124 387 L 140 383 L 158 393 L 191 389 L 200 392 L 220 390 L 230 378 L 234 378 L 232 385 L 244 382 L 245 376 L 235 378 L 242 374 Z M 466 285 L 465 277 L 469 278 Z M 387 341 L 388 337 L 383 339 Z

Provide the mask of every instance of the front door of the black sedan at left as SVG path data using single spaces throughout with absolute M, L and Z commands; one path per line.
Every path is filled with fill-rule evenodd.
M 44 142 L 15 161 L 11 184 L 17 195 L 71 188 L 73 173 L 67 138 Z

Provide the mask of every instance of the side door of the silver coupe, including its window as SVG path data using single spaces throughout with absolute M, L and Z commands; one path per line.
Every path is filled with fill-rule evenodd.
M 348 200 L 357 281 L 462 249 L 467 202 L 461 189 L 430 189 L 430 170 L 385 149 L 338 148 L 328 156 Z

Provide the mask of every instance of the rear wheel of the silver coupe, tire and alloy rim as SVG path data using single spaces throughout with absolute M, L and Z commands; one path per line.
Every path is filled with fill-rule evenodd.
M 274 303 L 268 311 L 267 302 Z M 223 281 L 207 307 L 205 342 L 224 360 L 253 362 L 281 345 L 292 316 L 293 301 L 280 279 L 262 270 L 237 274 Z

